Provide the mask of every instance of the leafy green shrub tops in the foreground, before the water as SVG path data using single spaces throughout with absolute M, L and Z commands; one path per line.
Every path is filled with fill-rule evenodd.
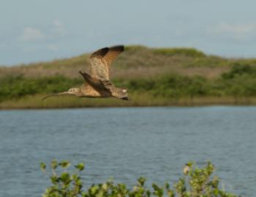
M 219 188 L 219 178 L 213 177 L 214 166 L 208 162 L 203 168 L 198 168 L 192 163 L 187 163 L 184 168 L 184 176 L 178 179 L 173 187 L 166 182 L 164 186 L 155 183 L 152 188 L 146 187 L 146 179 L 138 178 L 138 183 L 127 188 L 124 183 L 114 183 L 113 180 L 100 184 L 93 184 L 87 190 L 83 190 L 83 181 L 80 172 L 85 169 L 83 163 L 75 166 L 75 173 L 70 173 L 67 168 L 70 166 L 68 161 L 58 163 L 53 160 L 50 163 L 51 174 L 46 171 L 47 166 L 41 163 L 41 169 L 48 174 L 51 186 L 45 190 L 43 197 L 150 197 L 150 196 L 169 196 L 169 197 L 233 197 L 232 193 L 227 193 Z M 62 169 L 62 170 L 61 170 Z

